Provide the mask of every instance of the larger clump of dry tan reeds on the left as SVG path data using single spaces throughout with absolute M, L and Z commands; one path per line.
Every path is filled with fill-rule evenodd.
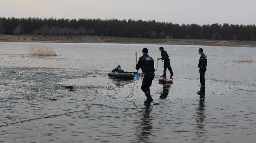
M 33 56 L 57 56 L 55 50 L 47 47 L 30 47 L 29 55 Z

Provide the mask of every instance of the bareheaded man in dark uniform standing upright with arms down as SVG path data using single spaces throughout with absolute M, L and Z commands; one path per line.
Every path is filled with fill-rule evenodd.
M 198 62 L 198 68 L 200 73 L 200 84 L 201 88 L 200 91 L 198 91 L 198 94 L 205 94 L 205 72 L 206 72 L 206 66 L 207 66 L 207 56 L 203 53 L 203 49 L 199 48 L 198 53 L 201 55 L 199 62 Z

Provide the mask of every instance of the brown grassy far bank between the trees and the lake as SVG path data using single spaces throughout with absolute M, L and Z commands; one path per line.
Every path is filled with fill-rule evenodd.
M 168 44 L 256 47 L 256 41 L 205 40 L 205 39 L 149 39 L 104 36 L 43 36 L 43 35 L 0 35 L 0 42 L 42 42 L 42 43 L 123 43 L 123 44 Z

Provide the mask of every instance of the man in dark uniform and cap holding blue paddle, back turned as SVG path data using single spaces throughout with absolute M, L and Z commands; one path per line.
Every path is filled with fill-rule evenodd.
M 147 100 L 144 101 L 144 104 L 150 104 L 153 102 L 149 87 L 152 84 L 152 80 L 155 78 L 154 60 L 148 55 L 147 48 L 142 49 L 142 54 L 143 56 L 139 58 L 139 61 L 136 65 L 136 70 L 141 68 L 142 72 L 145 74 L 142 81 L 141 90 L 147 97 Z

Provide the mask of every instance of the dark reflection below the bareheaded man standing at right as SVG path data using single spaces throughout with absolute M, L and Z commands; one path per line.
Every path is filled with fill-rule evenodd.
M 204 125 L 205 125 L 205 118 L 206 116 L 204 115 L 205 111 L 205 105 L 204 105 L 204 100 L 205 100 L 205 94 L 200 95 L 200 100 L 199 100 L 199 107 L 196 110 L 196 132 L 198 134 L 198 137 L 203 137 L 205 133 Z

